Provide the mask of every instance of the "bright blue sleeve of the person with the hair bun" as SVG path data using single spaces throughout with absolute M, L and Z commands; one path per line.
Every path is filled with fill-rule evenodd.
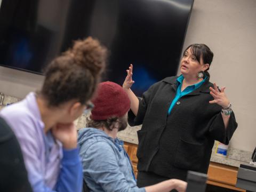
M 79 149 L 63 149 L 61 166 L 56 191 L 81 192 L 83 185 L 83 167 L 79 157 Z

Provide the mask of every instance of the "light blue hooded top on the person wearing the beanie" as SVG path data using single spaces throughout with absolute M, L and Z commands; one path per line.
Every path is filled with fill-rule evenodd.
M 84 180 L 90 191 L 145 191 L 138 188 L 123 141 L 84 128 L 78 133 Z

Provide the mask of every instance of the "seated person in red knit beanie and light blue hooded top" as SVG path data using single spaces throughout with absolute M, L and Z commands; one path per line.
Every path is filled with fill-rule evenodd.
M 153 186 L 137 187 L 129 156 L 117 132 L 127 126 L 130 100 L 122 87 L 114 82 L 98 86 L 92 100 L 94 108 L 87 128 L 79 130 L 78 143 L 83 164 L 84 181 L 89 191 L 106 192 L 167 192 L 186 190 L 185 181 L 171 179 Z

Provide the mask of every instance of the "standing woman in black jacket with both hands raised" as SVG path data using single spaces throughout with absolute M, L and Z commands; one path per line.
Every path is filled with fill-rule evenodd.
M 225 94 L 209 82 L 213 53 L 205 44 L 187 47 L 181 76 L 152 85 L 138 99 L 131 91 L 131 65 L 123 89 L 131 100 L 129 124 L 138 131 L 138 186 L 166 179 L 186 180 L 188 170 L 206 173 L 214 140 L 226 145 L 237 123 Z

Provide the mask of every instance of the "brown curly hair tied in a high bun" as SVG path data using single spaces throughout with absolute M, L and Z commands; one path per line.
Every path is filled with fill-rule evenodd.
M 85 104 L 93 95 L 106 66 L 107 49 L 88 37 L 74 42 L 45 69 L 41 94 L 49 106 L 77 99 Z

